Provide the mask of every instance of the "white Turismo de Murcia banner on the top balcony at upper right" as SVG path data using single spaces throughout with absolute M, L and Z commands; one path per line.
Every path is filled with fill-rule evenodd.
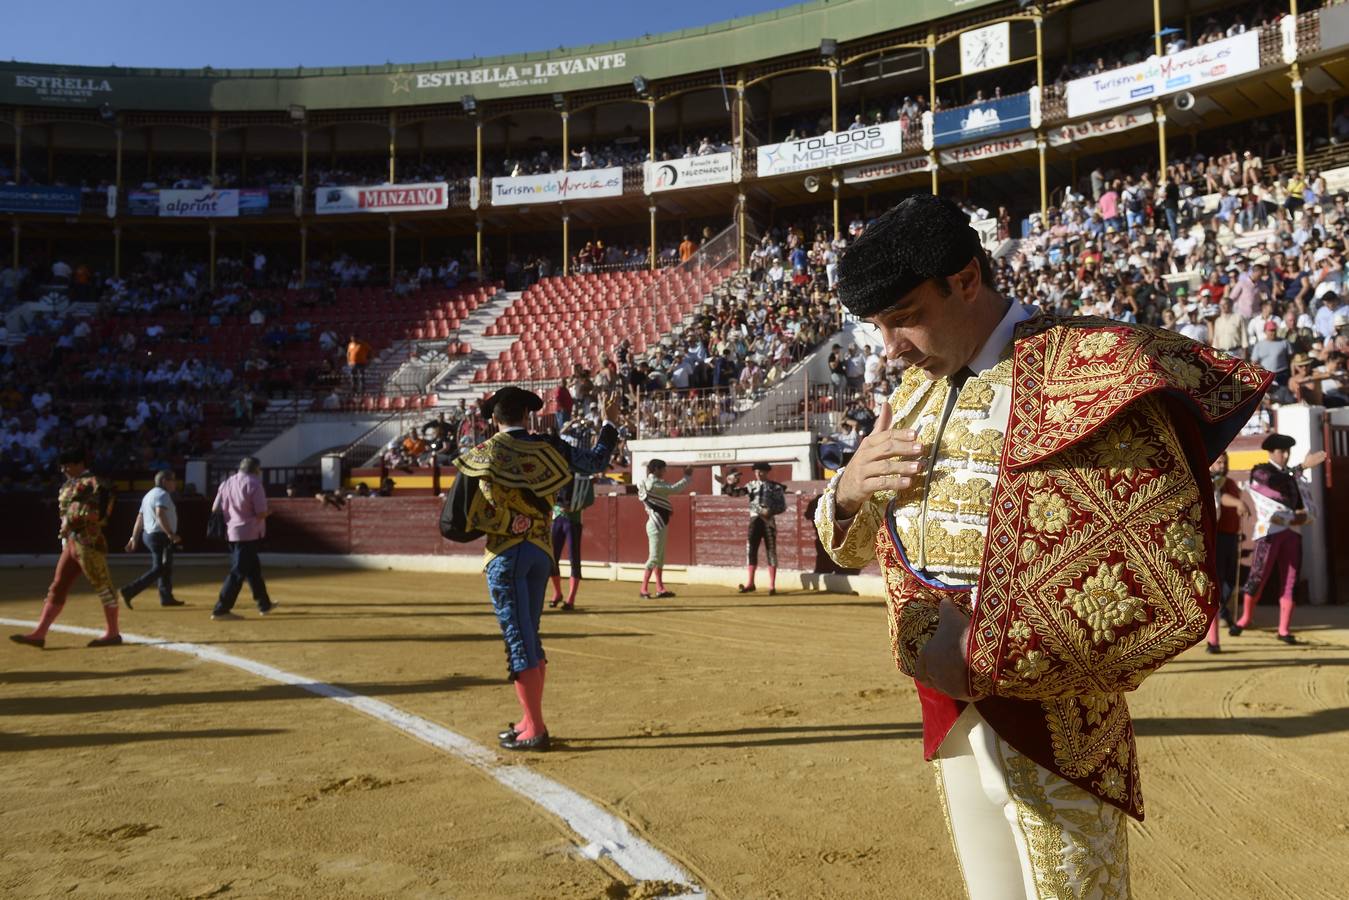
M 1199 45 L 1170 57 L 1149 57 L 1068 82 L 1068 117 L 1090 116 L 1140 100 L 1152 100 L 1179 90 L 1194 90 L 1260 67 L 1260 34 L 1246 31 L 1236 38 Z

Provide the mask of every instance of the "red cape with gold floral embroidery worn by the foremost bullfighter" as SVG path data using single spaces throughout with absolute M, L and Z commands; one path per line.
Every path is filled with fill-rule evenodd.
M 908 372 L 892 395 L 896 428 L 912 426 L 900 412 L 913 412 L 907 399 L 924 378 Z M 1013 343 L 973 590 L 909 565 L 892 502 L 920 502 L 921 491 L 877 493 L 842 541 L 827 497 L 820 541 L 840 565 L 880 561 L 901 671 L 913 673 L 950 596 L 971 615 L 966 653 L 981 715 L 1039 765 L 1141 819 L 1124 694 L 1207 629 L 1217 584 L 1207 466 L 1269 378 L 1174 332 L 1033 318 Z M 965 704 L 923 685 L 919 695 L 931 758 Z

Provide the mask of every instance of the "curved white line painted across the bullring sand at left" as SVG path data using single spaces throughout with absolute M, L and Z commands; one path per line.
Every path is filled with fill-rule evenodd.
M 36 622 L 0 618 L 0 625 L 34 627 L 36 626 Z M 84 634 L 89 637 L 98 637 L 103 634 L 100 629 L 86 629 L 74 625 L 53 625 L 51 630 L 66 634 Z M 376 700 L 360 694 L 352 694 L 351 691 L 340 688 L 335 684 L 314 681 L 313 679 L 306 679 L 302 675 L 285 672 L 271 665 L 255 663 L 241 656 L 225 653 L 224 650 L 217 650 L 201 644 L 166 641 L 142 634 L 127 634 L 125 631 L 123 631 L 121 640 L 127 644 L 144 644 L 161 650 L 173 650 L 174 653 L 194 656 L 206 663 L 229 665 L 251 675 L 256 675 L 260 679 L 277 681 L 278 684 L 291 684 L 309 691 L 310 694 L 317 694 L 318 696 L 349 706 L 359 712 L 364 712 L 366 715 L 379 719 L 386 725 L 391 725 L 399 731 L 413 735 L 418 741 L 425 741 L 433 748 L 444 750 L 445 753 L 482 769 L 506 788 L 552 812 L 565 822 L 567 826 L 580 838 L 580 851 L 587 858 L 599 860 L 600 857 L 608 857 L 634 881 L 668 881 L 692 887 L 692 892 L 680 895 L 680 897 L 673 897 L 672 900 L 695 900 L 707 896 L 701 888 L 695 885 L 693 878 L 683 869 L 683 866 L 669 860 L 664 853 L 633 834 L 631 828 L 627 827 L 627 823 L 618 816 L 602 810 L 594 801 L 587 800 L 571 788 L 561 785 L 552 779 L 546 779 L 537 772 L 532 772 L 523 765 L 503 764 L 495 752 L 488 750 L 469 738 L 465 738 L 463 734 L 451 731 L 442 725 L 436 725 L 434 722 L 424 719 L 420 715 L 405 712 L 403 710 L 390 706 L 383 700 Z

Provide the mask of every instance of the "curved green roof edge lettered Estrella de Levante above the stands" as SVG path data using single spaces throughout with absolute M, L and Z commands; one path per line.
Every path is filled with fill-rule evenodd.
M 634 40 L 506 57 L 320 69 L 136 69 L 0 62 L 0 104 L 251 111 L 401 107 L 585 90 L 735 67 L 1001 0 L 812 0 Z M 734 73 L 727 73 L 734 78 Z

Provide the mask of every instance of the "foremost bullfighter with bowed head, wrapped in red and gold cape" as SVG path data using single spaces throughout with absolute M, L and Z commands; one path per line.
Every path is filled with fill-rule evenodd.
M 881 565 L 966 888 L 1126 897 L 1143 792 L 1125 694 L 1215 613 L 1207 467 L 1269 376 L 1004 298 L 936 197 L 870 225 L 839 290 L 911 367 L 816 526 L 840 565 Z

